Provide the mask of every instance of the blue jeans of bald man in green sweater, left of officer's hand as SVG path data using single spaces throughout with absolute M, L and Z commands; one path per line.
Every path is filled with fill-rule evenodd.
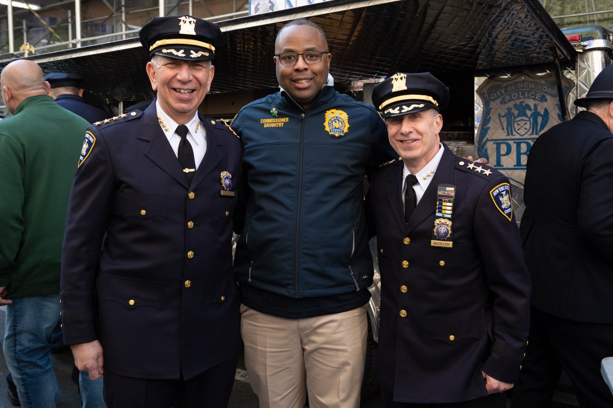
M 13 299 L 6 306 L 2 351 L 22 408 L 57 408 L 51 347 L 62 346 L 59 294 Z

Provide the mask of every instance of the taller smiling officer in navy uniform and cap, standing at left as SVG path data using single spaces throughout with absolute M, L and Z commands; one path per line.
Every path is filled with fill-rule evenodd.
M 184 15 L 153 18 L 140 40 L 158 97 L 86 132 L 63 248 L 64 343 L 90 378 L 104 374 L 109 407 L 226 407 L 241 347 L 242 147 L 197 111 L 224 38 Z

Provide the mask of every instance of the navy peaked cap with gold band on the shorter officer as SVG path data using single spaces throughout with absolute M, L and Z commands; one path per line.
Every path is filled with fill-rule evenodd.
M 373 86 L 373 105 L 381 116 L 400 116 L 426 109 L 440 112 L 449 103 L 449 88 L 429 72 L 398 72 Z

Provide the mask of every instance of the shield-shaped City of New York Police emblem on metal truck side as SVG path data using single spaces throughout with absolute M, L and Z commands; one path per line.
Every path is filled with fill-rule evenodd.
M 563 78 L 564 92 L 572 83 Z M 489 78 L 477 89 L 483 102 L 477 154 L 523 186 L 528 153 L 541 133 L 562 122 L 554 73 Z M 478 119 L 478 118 L 476 118 Z

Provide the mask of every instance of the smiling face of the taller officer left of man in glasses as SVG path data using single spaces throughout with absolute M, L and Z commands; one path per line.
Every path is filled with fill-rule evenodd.
M 204 100 L 213 81 L 211 61 L 183 61 L 154 56 L 147 63 L 147 75 L 159 105 L 177 124 L 189 122 Z

